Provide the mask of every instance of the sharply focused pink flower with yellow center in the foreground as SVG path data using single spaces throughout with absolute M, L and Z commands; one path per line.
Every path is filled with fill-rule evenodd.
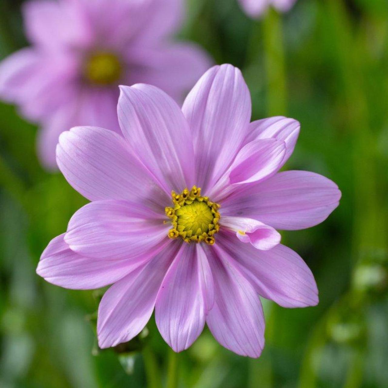
M 274 228 L 325 220 L 338 206 L 337 185 L 277 172 L 300 125 L 249 123 L 248 87 L 231 65 L 208 70 L 182 110 L 154 86 L 123 86 L 118 117 L 124 137 L 94 127 L 59 137 L 59 168 L 92 202 L 50 242 L 37 273 L 71 289 L 114 283 L 99 306 L 101 348 L 139 334 L 155 307 L 177 352 L 206 322 L 225 348 L 258 357 L 259 295 L 284 307 L 318 303 L 311 271 Z

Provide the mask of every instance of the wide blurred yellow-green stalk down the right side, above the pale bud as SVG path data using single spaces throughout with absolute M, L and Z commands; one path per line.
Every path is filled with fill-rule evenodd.
M 362 61 L 367 47 L 361 45 L 352 28 L 343 0 L 329 0 L 327 11 L 333 18 L 337 36 L 334 49 L 338 55 L 349 127 L 353 131 L 353 168 L 355 209 L 353 222 L 353 257 L 358 260 L 370 249 L 385 248 L 379 214 L 376 176 L 376 139 L 369 126 L 369 112 L 364 92 Z M 385 228 L 383 228 L 385 229 Z

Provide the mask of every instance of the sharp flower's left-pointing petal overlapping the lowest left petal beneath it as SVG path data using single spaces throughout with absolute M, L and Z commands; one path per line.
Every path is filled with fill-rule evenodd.
M 74 213 L 64 240 L 80 255 L 144 261 L 165 246 L 170 226 L 140 202 L 94 201 Z

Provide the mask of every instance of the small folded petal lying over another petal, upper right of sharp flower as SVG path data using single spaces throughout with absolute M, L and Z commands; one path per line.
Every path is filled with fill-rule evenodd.
M 237 154 L 230 167 L 230 184 L 260 182 L 273 175 L 282 163 L 286 145 L 275 139 L 248 143 Z

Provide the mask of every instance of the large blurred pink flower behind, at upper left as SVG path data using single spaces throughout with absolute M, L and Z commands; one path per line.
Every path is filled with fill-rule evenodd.
M 207 55 L 168 37 L 182 19 L 182 0 L 33 0 L 24 5 L 32 47 L 0 66 L 0 98 L 42 125 L 38 152 L 57 168 L 55 146 L 75 125 L 121 133 L 118 85 L 156 85 L 183 100 L 210 66 Z

